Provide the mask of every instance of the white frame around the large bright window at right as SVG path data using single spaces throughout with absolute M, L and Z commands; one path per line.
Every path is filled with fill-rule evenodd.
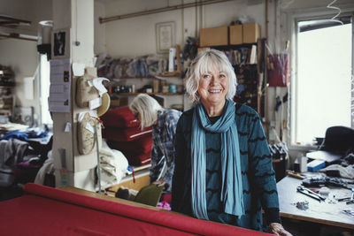
M 350 16 L 351 17 L 351 27 L 352 27 L 352 53 L 351 53 L 351 126 L 354 127 L 354 4 L 342 4 L 337 5 L 341 9 L 340 16 Z M 336 11 L 333 9 L 327 9 L 326 7 L 322 8 L 309 8 L 301 10 L 289 10 L 284 11 L 286 24 L 287 26 L 286 35 L 287 39 L 290 39 L 290 104 L 289 104 L 289 143 L 288 146 L 290 149 L 304 151 L 311 148 L 316 148 L 314 146 L 305 146 L 304 144 L 296 144 L 296 118 L 293 114 L 296 114 L 297 110 L 297 95 L 298 88 L 296 84 L 297 78 L 297 28 L 298 22 L 304 20 L 312 19 L 331 19 L 335 16 Z

